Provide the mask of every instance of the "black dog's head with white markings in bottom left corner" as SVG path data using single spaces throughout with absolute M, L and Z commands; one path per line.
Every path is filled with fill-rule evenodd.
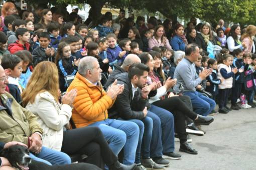
M 13 167 L 20 170 L 29 169 L 31 157 L 29 156 L 29 149 L 25 146 L 13 145 L 5 148 L 0 152 L 0 156 L 6 157 Z

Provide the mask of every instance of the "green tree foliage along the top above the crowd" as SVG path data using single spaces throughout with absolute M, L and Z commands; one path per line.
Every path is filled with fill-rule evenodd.
M 38 3 L 37 0 L 28 0 Z M 41 0 L 44 1 L 44 0 Z M 198 17 L 212 23 L 222 18 L 225 21 L 245 23 L 256 22 L 256 0 L 45 0 L 52 4 L 88 3 L 92 7 L 93 19 L 98 19 L 104 4 L 111 7 L 146 8 L 159 11 L 166 17 Z

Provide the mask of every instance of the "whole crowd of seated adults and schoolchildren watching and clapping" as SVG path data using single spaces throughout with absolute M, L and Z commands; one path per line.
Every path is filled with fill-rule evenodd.
M 18 9 L 1 9 L 1 148 L 23 144 L 56 165 L 86 154 L 83 169 L 165 169 L 163 155 L 181 158 L 175 137 L 198 154 L 189 134 L 204 135 L 209 115 L 256 107 L 254 25 L 135 22 L 123 9 L 93 25 L 78 6 Z

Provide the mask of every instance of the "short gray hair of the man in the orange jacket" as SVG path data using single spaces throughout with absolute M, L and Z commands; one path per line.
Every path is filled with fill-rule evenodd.
M 93 56 L 85 56 L 83 57 L 79 64 L 78 64 L 78 72 L 85 76 L 86 72 L 88 70 L 92 70 L 93 69 L 93 62 L 95 62 L 97 60 L 97 58 L 93 57 Z

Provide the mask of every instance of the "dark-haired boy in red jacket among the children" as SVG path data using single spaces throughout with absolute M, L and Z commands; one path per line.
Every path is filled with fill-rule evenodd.
M 28 29 L 18 28 L 15 31 L 15 35 L 18 38 L 18 40 L 14 43 L 11 43 L 8 46 L 8 50 L 11 53 L 15 53 L 19 50 L 29 50 L 29 47 L 30 47 L 30 44 L 29 44 L 30 33 L 29 33 Z

